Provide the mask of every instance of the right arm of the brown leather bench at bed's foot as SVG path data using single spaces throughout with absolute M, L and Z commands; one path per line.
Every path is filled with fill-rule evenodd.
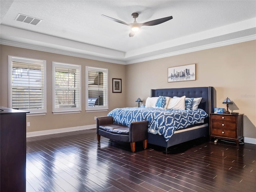
M 129 129 L 129 142 L 148 139 L 148 121 L 132 122 Z

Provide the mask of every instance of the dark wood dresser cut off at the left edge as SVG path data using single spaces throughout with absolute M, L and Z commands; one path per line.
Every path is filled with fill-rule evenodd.
M 1 192 L 26 192 L 26 113 L 0 107 Z

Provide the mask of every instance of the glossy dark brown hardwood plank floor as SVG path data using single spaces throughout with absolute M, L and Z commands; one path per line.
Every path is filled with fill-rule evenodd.
M 27 138 L 27 192 L 255 192 L 256 145 L 197 140 L 130 152 L 96 129 Z

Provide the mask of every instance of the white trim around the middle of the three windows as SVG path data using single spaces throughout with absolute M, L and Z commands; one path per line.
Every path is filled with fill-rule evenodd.
M 79 70 L 79 107 L 75 108 L 55 108 L 56 106 L 56 95 L 55 95 L 55 68 L 56 67 L 64 67 L 64 68 L 72 68 Z M 80 113 L 81 112 L 81 84 L 82 84 L 82 74 L 81 74 L 81 66 L 75 64 L 67 64 L 60 62 L 52 62 L 52 113 L 53 114 L 69 114 L 69 113 Z

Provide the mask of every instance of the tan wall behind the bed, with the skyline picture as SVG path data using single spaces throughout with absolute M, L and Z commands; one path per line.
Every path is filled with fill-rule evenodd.
M 196 63 L 196 81 L 167 82 L 167 69 Z M 150 89 L 213 86 L 216 107 L 244 113 L 244 136 L 256 138 L 256 41 L 181 54 L 126 66 L 127 106 L 138 106 Z

